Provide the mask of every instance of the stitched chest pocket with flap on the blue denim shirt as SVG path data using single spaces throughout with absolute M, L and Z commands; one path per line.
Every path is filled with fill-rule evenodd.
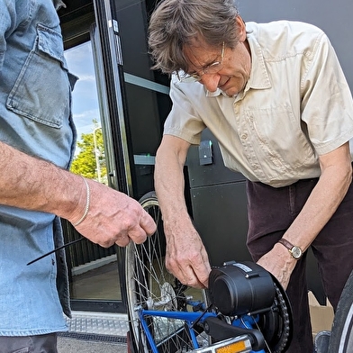
M 39 24 L 33 49 L 23 64 L 6 106 L 34 122 L 60 128 L 69 116 L 70 95 L 61 34 Z

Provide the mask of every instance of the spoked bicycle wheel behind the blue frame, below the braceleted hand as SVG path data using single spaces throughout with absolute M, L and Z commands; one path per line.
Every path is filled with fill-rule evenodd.
M 140 199 L 142 207 L 157 224 L 157 231 L 143 244 L 131 243 L 126 249 L 125 275 L 128 294 L 128 312 L 131 336 L 140 353 L 151 351 L 145 330 L 140 321 L 140 309 L 186 312 L 187 301 L 204 299 L 204 291 L 182 285 L 165 266 L 166 239 L 158 199 L 154 192 Z M 193 344 L 186 330 L 186 322 L 157 316 L 145 318 L 149 332 L 160 353 L 187 352 Z M 208 346 L 208 337 L 196 328 L 197 340 Z M 200 334 L 201 333 L 201 334 Z

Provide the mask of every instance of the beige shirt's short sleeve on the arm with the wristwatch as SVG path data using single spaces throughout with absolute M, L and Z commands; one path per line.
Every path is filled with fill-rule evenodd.
M 307 124 L 312 145 L 321 155 L 353 136 L 353 100 L 339 59 L 325 34 L 313 54 L 303 77 L 302 120 Z

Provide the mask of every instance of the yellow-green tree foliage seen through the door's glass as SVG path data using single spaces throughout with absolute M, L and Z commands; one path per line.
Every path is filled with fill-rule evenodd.
M 83 133 L 77 141 L 78 153 L 70 170 L 78 175 L 107 184 L 102 128 L 92 133 Z

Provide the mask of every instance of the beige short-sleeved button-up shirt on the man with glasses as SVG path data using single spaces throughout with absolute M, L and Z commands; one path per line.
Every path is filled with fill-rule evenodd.
M 353 137 L 352 96 L 327 36 L 307 23 L 247 23 L 252 68 L 236 97 L 172 77 L 164 133 L 198 144 L 207 127 L 226 167 L 287 186 Z

